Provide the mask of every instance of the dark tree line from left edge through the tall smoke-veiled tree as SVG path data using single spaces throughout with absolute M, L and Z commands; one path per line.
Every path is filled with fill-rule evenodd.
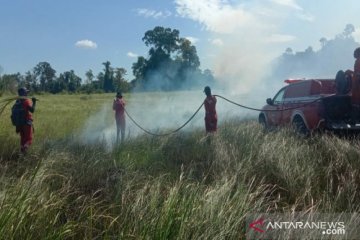
M 39 62 L 25 74 L 1 75 L 0 93 L 15 91 L 18 86 L 26 86 L 32 92 L 76 93 L 76 92 L 128 92 L 151 90 L 179 90 L 214 82 L 212 72 L 200 70 L 196 47 L 181 38 L 177 29 L 155 27 L 142 38 L 150 47 L 148 57 L 140 56 L 132 65 L 135 78 L 125 79 L 127 71 L 123 67 L 112 67 L 103 62 L 103 71 L 94 75 L 89 69 L 83 80 L 74 70 L 56 74 L 50 63 Z

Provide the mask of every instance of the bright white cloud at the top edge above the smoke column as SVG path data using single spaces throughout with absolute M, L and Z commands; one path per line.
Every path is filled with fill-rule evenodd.
M 293 17 L 304 21 L 314 20 L 295 0 L 238 4 L 227 0 L 175 0 L 175 4 L 179 16 L 199 22 L 208 31 L 222 34 L 232 34 L 249 26 L 257 29 L 265 25 L 273 27 L 274 20 L 288 17 L 293 11 Z

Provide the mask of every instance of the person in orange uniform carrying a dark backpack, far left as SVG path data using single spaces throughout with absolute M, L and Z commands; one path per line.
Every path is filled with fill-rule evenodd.
M 18 95 L 20 98 L 16 100 L 20 101 L 25 109 L 26 124 L 16 127 L 16 132 L 20 134 L 20 150 L 22 153 L 26 153 L 32 144 L 34 133 L 32 113 L 35 112 L 36 98 L 32 98 L 31 100 L 26 98 L 28 93 L 29 90 L 25 87 L 19 88 Z

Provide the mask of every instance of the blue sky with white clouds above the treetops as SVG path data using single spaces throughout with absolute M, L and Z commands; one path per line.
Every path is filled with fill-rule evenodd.
M 358 0 L 0 0 L 0 66 L 24 74 L 47 61 L 84 78 L 108 60 L 131 80 L 145 31 L 164 26 L 193 41 L 202 69 L 236 79 L 287 47 L 316 49 L 348 23 L 360 41 L 359 12 Z

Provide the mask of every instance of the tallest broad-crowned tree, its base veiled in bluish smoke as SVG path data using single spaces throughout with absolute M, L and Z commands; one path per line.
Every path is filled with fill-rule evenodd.
M 145 32 L 142 38 L 150 47 L 148 59 L 138 57 L 132 70 L 140 89 L 176 90 L 184 82 L 199 81 L 200 60 L 196 47 L 185 38 L 179 37 L 179 30 L 155 27 Z

